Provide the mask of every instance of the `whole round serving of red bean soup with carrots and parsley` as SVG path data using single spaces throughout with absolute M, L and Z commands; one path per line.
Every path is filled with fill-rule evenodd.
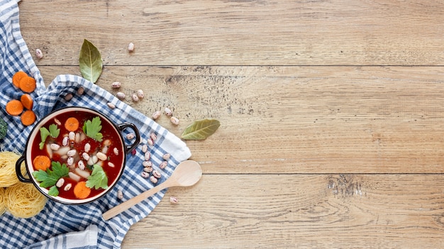
M 48 195 L 87 199 L 119 177 L 126 151 L 118 130 L 93 112 L 62 112 L 40 127 L 33 176 Z

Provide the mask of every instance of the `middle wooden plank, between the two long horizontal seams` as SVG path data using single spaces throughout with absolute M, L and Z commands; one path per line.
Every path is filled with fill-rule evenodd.
M 77 66 L 40 66 L 44 79 Z M 443 67 L 106 66 L 99 85 L 166 106 L 181 120 L 221 120 L 188 141 L 205 173 L 444 173 Z M 48 82 L 48 80 L 47 80 Z

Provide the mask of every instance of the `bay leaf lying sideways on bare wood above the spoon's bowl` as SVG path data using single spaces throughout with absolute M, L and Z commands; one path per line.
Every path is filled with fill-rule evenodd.
M 185 140 L 202 140 L 211 136 L 221 122 L 213 119 L 196 120 L 182 132 L 182 139 Z

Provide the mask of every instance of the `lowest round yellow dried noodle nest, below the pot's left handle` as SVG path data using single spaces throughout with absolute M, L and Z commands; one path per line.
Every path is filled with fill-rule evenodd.
M 46 201 L 46 197 L 29 183 L 16 183 L 6 188 L 4 194 L 6 209 L 18 218 L 26 219 L 40 213 Z

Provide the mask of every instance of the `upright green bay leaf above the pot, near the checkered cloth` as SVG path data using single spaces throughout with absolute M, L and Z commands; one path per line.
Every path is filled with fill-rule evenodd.
M 97 47 L 87 39 L 83 41 L 82 49 L 80 50 L 79 66 L 83 78 L 96 83 L 104 64 Z

